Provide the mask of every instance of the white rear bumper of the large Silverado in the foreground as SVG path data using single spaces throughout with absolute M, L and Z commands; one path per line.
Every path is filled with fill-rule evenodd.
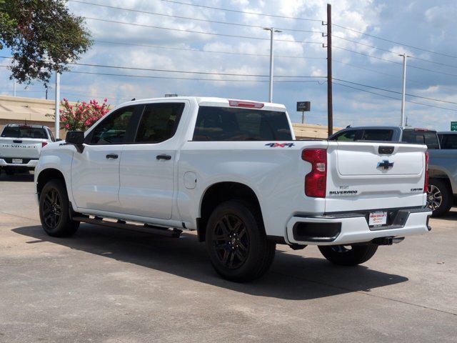
M 430 209 L 400 209 L 391 225 L 368 227 L 365 213 L 292 217 L 287 223 L 287 240 L 301 245 L 337 245 L 371 242 L 378 237 L 406 237 L 431 230 Z

